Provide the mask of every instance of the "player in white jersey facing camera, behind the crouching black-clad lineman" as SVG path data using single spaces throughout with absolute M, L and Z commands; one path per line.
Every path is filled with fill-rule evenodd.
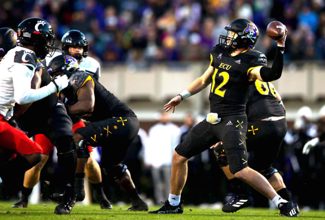
M 64 54 L 74 55 L 78 57 L 78 63 L 81 65 L 81 68 L 85 70 L 89 75 L 93 76 L 98 80 L 100 76 L 100 66 L 99 63 L 92 57 L 88 56 L 88 42 L 85 35 L 79 30 L 69 30 L 67 31 L 61 39 L 62 49 Z M 55 52 L 53 55 L 61 55 L 60 52 Z M 46 57 L 45 62 L 48 65 L 53 57 Z M 79 66 L 80 67 L 80 66 Z M 79 117 L 71 117 L 73 121 L 73 132 L 80 128 L 85 127 L 85 123 Z M 37 142 L 44 151 L 44 154 L 47 156 L 42 158 L 41 163 L 29 170 L 27 175 L 25 174 L 24 186 L 22 190 L 21 199 L 13 205 L 13 207 L 27 207 L 28 196 L 32 193 L 32 188 L 39 181 L 40 171 L 45 165 L 49 153 L 53 150 L 54 145 L 52 142 L 45 137 L 44 135 L 38 134 L 35 136 L 35 142 Z M 93 148 L 88 146 L 88 151 L 90 156 L 87 154 L 78 154 L 79 149 L 77 149 L 78 163 L 75 174 L 75 192 L 77 194 L 76 201 L 82 201 L 85 198 L 85 189 L 84 189 L 84 177 L 85 177 L 85 161 L 86 164 L 86 175 L 90 183 L 94 188 L 94 194 L 96 199 L 100 204 L 101 209 L 112 209 L 112 205 L 109 200 L 106 198 L 106 195 L 102 189 L 101 181 L 101 171 L 100 166 L 92 157 Z M 87 160 L 88 158 L 88 160 Z M 83 162 L 81 162 L 83 161 Z

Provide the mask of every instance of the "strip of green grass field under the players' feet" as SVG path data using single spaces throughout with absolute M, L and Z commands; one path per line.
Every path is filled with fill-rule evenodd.
M 70 215 L 54 214 L 55 203 L 47 205 L 29 205 L 28 208 L 11 208 L 12 202 L 0 202 L 0 220 L 278 220 L 278 210 L 246 208 L 237 213 L 223 213 L 221 209 L 202 209 L 185 206 L 184 213 L 179 215 L 149 215 L 147 212 L 127 212 L 129 206 L 114 205 L 112 210 L 101 210 L 99 205 L 84 206 L 77 204 Z M 155 210 L 158 206 L 151 206 Z M 302 212 L 298 215 L 304 220 L 325 220 L 325 211 Z

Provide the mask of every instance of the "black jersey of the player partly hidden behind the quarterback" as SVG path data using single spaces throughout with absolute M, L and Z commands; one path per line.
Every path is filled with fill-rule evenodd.
M 279 105 L 276 96 L 273 83 L 255 81 L 246 105 L 248 121 L 257 121 L 271 116 L 285 116 L 285 110 Z

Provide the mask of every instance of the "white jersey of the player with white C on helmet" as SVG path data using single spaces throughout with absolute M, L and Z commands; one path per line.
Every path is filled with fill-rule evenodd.
M 31 85 L 34 76 L 37 58 L 33 51 L 15 47 L 8 51 L 0 62 L 0 114 L 7 120 L 13 114 L 13 107 L 16 100 L 15 87 L 19 87 L 21 82 L 29 80 Z M 21 78 L 21 76 L 24 77 Z M 13 79 L 14 78 L 14 79 Z M 15 82 L 14 82 L 15 81 Z M 30 86 L 31 87 L 31 86 Z

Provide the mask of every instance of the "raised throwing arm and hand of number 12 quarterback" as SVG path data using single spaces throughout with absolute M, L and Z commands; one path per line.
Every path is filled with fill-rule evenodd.
M 278 80 L 282 75 L 283 63 L 284 63 L 284 47 L 287 38 L 287 28 L 284 37 L 277 42 L 277 49 L 274 57 L 272 67 L 260 66 L 252 69 L 248 75 L 250 80 L 260 80 L 263 82 L 270 82 Z

